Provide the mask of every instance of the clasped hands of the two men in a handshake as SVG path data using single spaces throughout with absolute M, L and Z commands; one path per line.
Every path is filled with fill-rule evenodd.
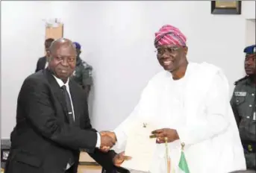
M 101 131 L 101 147 L 100 150 L 107 152 L 116 144 L 116 134 L 111 131 Z

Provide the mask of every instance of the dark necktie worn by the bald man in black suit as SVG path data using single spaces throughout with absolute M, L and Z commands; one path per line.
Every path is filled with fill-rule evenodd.
M 65 85 L 63 85 L 61 87 L 61 89 L 63 91 L 63 95 L 64 95 L 64 98 L 66 100 L 66 109 L 68 111 L 69 125 L 74 125 L 75 121 L 74 121 L 74 117 L 73 117 L 73 111 L 72 111 L 72 106 L 71 106 L 71 100 L 70 100 L 70 97 L 69 97 L 69 93 L 67 92 Z M 70 156 L 69 166 L 72 166 L 74 163 L 75 163 L 74 156 Z

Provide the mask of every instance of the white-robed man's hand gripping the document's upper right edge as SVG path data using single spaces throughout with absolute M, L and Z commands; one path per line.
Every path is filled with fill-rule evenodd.
M 173 142 L 179 139 L 178 133 L 175 129 L 171 128 L 162 128 L 158 130 L 152 131 L 154 137 L 157 138 L 157 143 L 166 142 L 165 138 L 167 138 L 167 142 Z

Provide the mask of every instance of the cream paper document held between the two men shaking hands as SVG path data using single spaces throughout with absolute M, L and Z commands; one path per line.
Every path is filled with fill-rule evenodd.
M 149 138 L 157 128 L 152 123 L 138 121 L 128 132 L 125 155 L 132 157 L 125 160 L 122 167 L 141 172 L 149 172 L 152 166 L 153 154 L 156 148 L 156 139 Z

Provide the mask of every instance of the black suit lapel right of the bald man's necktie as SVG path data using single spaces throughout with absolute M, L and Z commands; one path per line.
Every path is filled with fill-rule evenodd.
M 80 125 L 80 114 L 79 114 L 79 103 L 78 103 L 78 98 L 79 98 L 79 93 L 77 92 L 77 89 L 75 89 L 73 81 L 69 80 L 69 90 L 70 90 L 70 95 L 72 98 L 72 104 L 75 112 L 75 125 L 79 126 Z

